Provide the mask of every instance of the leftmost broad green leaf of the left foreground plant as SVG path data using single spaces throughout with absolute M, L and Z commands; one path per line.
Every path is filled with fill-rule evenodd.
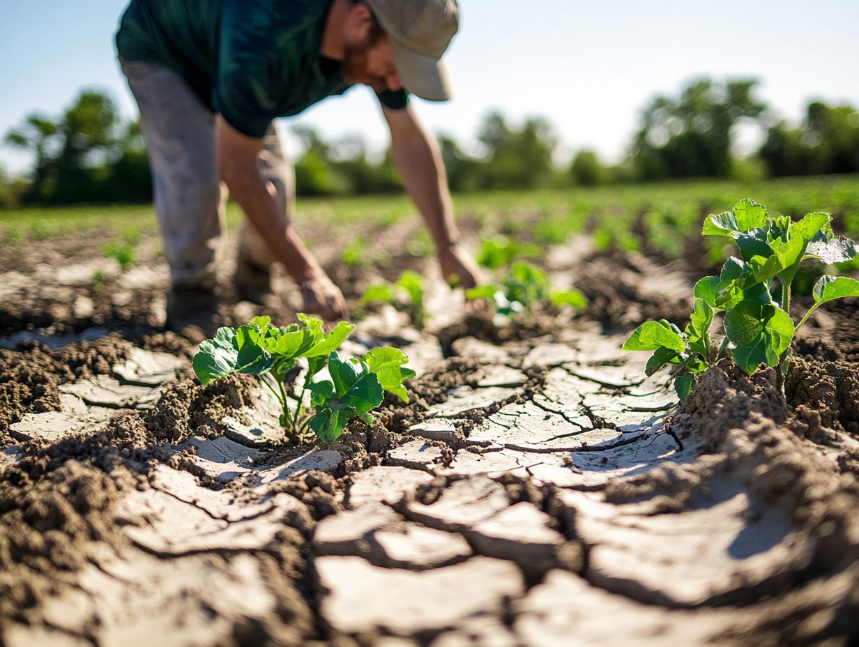
M 206 339 L 194 356 L 194 373 L 204 384 L 230 373 L 263 375 L 271 369 L 271 354 L 260 348 L 247 326 L 219 328 L 215 339 Z

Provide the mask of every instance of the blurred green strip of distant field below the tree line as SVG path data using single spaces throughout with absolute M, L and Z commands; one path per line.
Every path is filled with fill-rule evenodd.
M 639 251 L 642 241 L 666 258 L 679 257 L 683 238 L 696 235 L 710 211 L 726 211 L 740 198 L 754 198 L 771 211 L 801 216 L 829 211 L 838 233 L 859 236 L 859 177 L 827 176 L 758 183 L 736 181 L 673 182 L 528 192 L 488 192 L 454 196 L 457 216 L 487 230 L 521 234 L 540 244 L 558 244 L 583 229 L 598 247 Z M 297 223 L 366 223 L 384 226 L 414 214 L 403 195 L 360 198 L 302 198 Z M 241 212 L 228 208 L 228 227 Z M 99 205 L 64 209 L 22 209 L 0 213 L 0 241 L 15 247 L 81 231 L 133 245 L 155 233 L 151 205 Z M 716 260 L 721 248 L 708 251 Z

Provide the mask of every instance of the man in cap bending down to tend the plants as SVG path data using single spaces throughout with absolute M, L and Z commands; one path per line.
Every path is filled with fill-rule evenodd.
M 271 297 L 279 262 L 301 287 L 306 312 L 346 315 L 342 293 L 290 222 L 293 172 L 272 120 L 355 83 L 381 102 L 393 160 L 435 240 L 442 275 L 475 284 L 477 269 L 457 245 L 438 147 L 408 95 L 449 99 L 439 59 L 458 25 L 456 0 L 131 0 L 116 45 L 155 179 L 169 328 L 213 328 L 226 198 L 219 180 L 247 215 L 234 276 L 241 298 Z

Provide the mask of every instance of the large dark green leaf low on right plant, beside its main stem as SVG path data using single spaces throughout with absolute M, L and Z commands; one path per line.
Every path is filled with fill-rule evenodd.
M 762 363 L 775 366 L 780 361 L 795 327 L 781 308 L 744 301 L 725 315 L 725 332 L 734 344 L 734 362 L 751 374 Z

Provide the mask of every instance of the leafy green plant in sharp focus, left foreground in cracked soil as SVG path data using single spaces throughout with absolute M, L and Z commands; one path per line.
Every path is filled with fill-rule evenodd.
M 310 429 L 326 443 L 337 440 L 350 420 L 371 423 L 370 412 L 381 405 L 385 391 L 409 401 L 403 381 L 415 372 L 405 368 L 409 358 L 403 351 L 375 348 L 364 357 L 344 360 L 338 348 L 355 326 L 340 321 L 325 333 L 322 320 L 306 314 L 298 318 L 300 324 L 287 327 L 256 317 L 246 326 L 220 328 L 215 339 L 200 345 L 194 372 L 203 384 L 231 373 L 259 375 L 281 404 L 280 424 L 286 434 L 298 436 Z M 302 360 L 307 372 L 296 397 L 296 385 L 288 380 Z M 325 368 L 331 379 L 314 381 Z M 308 394 L 310 407 L 305 409 Z

